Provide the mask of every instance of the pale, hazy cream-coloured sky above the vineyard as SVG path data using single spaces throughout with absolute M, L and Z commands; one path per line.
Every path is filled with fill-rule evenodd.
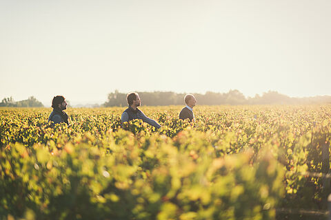
M 331 95 L 330 0 L 0 0 L 0 99 Z

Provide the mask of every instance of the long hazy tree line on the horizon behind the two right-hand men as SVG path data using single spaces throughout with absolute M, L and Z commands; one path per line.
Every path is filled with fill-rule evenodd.
M 143 91 L 138 92 L 143 105 L 183 105 L 185 94 L 177 94 L 172 91 Z M 104 107 L 127 106 L 126 95 L 115 90 L 108 94 L 108 100 L 103 104 Z M 217 104 L 326 104 L 331 103 L 331 96 L 314 96 L 309 98 L 292 98 L 277 91 L 268 91 L 261 96 L 246 98 L 239 90 L 230 90 L 227 93 L 215 93 L 207 91 L 205 94 L 193 94 L 198 104 L 217 105 Z

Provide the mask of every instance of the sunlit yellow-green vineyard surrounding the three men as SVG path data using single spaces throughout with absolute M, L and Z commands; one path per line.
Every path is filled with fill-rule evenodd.
M 0 219 L 327 219 L 331 105 L 181 108 L 0 109 Z

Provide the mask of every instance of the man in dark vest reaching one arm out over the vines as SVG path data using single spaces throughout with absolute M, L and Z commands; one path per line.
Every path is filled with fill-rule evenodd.
M 141 119 L 143 122 L 146 122 L 155 128 L 159 129 L 161 125 L 154 120 L 148 118 L 142 111 L 140 111 L 137 107 L 140 106 L 141 101 L 139 98 L 139 95 L 137 92 L 132 92 L 126 96 L 126 100 L 128 101 L 128 109 L 126 111 L 123 111 L 121 115 L 121 121 L 123 122 L 128 122 L 130 120 L 134 119 Z

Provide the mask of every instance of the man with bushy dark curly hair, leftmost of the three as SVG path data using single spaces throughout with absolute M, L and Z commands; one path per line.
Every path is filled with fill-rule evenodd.
M 68 115 L 63 110 L 67 109 L 66 98 L 63 96 L 54 96 L 52 100 L 52 108 L 53 111 L 50 113 L 50 117 L 48 118 L 48 122 L 54 122 L 54 124 L 66 123 L 68 122 Z

